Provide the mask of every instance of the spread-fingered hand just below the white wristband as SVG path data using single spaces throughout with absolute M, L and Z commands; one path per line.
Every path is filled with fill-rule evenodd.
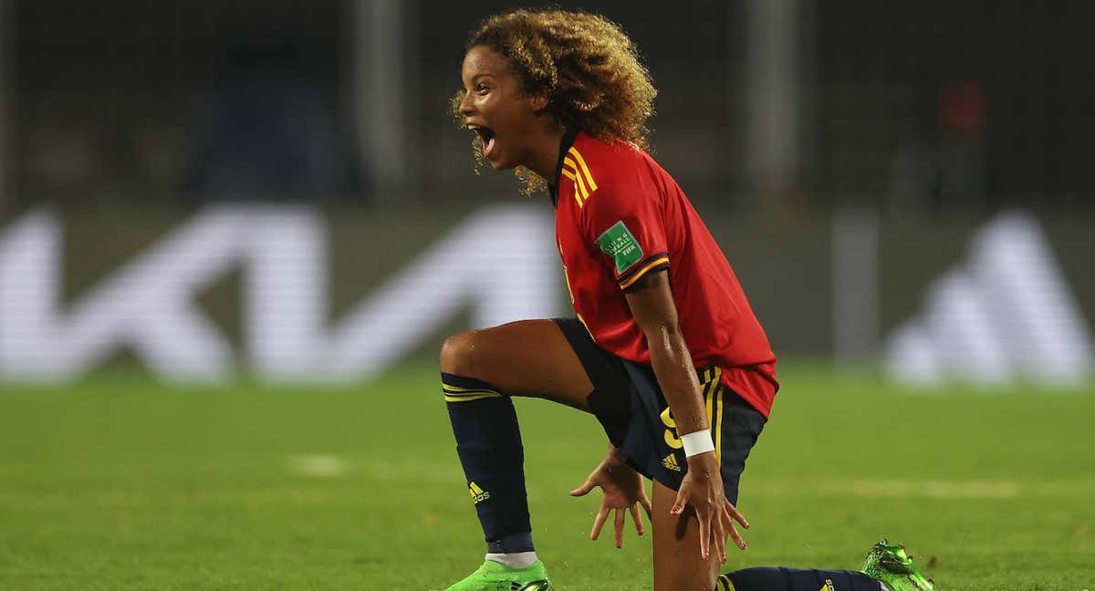
M 701 558 L 706 560 L 711 556 L 711 540 L 714 538 L 718 560 L 725 565 L 727 535 L 734 538 L 739 548 L 746 549 L 746 542 L 734 522 L 737 521 L 748 530 L 749 521 L 727 500 L 723 490 L 718 456 L 713 451 L 688 459 L 688 474 L 681 482 L 677 500 L 673 501 L 669 512 L 679 515 L 688 506 L 695 510 L 695 517 L 700 522 Z

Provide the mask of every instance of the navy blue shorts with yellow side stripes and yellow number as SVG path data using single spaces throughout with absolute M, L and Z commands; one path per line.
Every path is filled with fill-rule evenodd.
M 679 489 L 688 472 L 688 462 L 654 370 L 599 347 L 577 318 L 555 318 L 555 324 L 593 384 L 589 407 L 609 441 L 623 451 L 627 463 L 644 476 L 673 490 Z M 696 373 L 703 387 L 711 437 L 723 466 L 723 488 L 726 498 L 737 505 L 741 472 L 765 419 L 719 382 L 721 371 L 703 368 Z

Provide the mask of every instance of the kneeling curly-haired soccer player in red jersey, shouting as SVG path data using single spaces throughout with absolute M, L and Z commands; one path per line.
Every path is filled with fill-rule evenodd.
M 738 480 L 779 389 L 775 356 L 707 228 L 644 151 L 649 74 L 616 25 L 586 13 L 497 15 L 465 50 L 456 115 L 492 167 L 517 169 L 530 190 L 546 186 L 576 314 L 445 343 L 442 390 L 488 547 L 484 565 L 449 590 L 551 588 L 532 544 L 510 396 L 597 417 L 608 456 L 573 494 L 602 489 L 592 537 L 615 510 L 618 545 L 625 512 L 643 533 L 646 510 L 656 590 L 876 591 L 877 579 L 894 591 L 930 590 L 885 544 L 868 560 L 875 578 L 782 568 L 718 576 L 727 536 L 746 548 Z M 654 480 L 653 503 L 643 476 Z

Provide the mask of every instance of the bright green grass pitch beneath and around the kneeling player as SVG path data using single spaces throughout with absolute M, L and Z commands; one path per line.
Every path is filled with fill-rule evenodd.
M 906 542 L 942 590 L 1095 589 L 1095 393 L 908 393 L 785 363 L 729 567 L 858 568 Z M 592 417 L 517 402 L 560 589 L 648 589 L 649 537 L 588 540 Z M 611 528 L 611 525 L 609 525 Z M 630 528 L 630 524 L 629 524 Z M 436 368 L 356 389 L 0 386 L 0 588 L 443 588 L 484 546 Z

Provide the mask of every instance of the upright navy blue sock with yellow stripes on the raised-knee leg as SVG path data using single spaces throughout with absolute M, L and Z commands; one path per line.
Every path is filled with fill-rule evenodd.
M 463 375 L 442 372 L 441 390 L 488 552 L 533 551 L 514 403 L 497 387 Z

